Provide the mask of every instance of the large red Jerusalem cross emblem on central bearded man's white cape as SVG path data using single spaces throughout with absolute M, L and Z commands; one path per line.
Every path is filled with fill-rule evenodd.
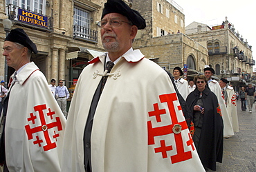
M 170 156 L 170 160 L 172 164 L 191 159 L 192 152 L 185 151 L 184 147 L 192 147 L 192 150 L 194 151 L 194 144 L 189 131 L 187 132 L 188 137 L 182 136 L 182 134 L 183 135 L 187 134 L 183 131 L 185 129 L 188 130 L 188 125 L 185 122 L 185 118 L 183 118 L 183 121 L 179 121 L 176 116 L 175 109 L 177 108 L 179 111 L 181 111 L 180 105 L 178 107 L 174 107 L 174 101 L 177 100 L 176 93 L 160 95 L 159 99 L 161 103 L 167 103 L 167 109 L 159 109 L 158 103 L 156 103 L 153 105 L 154 111 L 148 112 L 149 117 L 155 117 L 156 122 L 161 122 L 162 121 L 161 116 L 166 115 L 167 111 L 169 111 L 170 120 L 172 124 L 161 126 L 161 127 L 153 127 L 152 121 L 151 120 L 147 121 L 148 145 L 156 144 L 154 138 L 157 136 L 167 136 L 170 139 L 172 139 L 174 136 L 174 142 L 172 142 L 172 145 L 167 145 L 166 140 L 160 140 L 161 146 L 156 147 L 154 149 L 154 152 L 161 153 L 162 158 L 168 158 L 167 151 L 172 151 L 176 149 L 174 150 L 176 154 Z M 184 138 L 188 138 L 188 140 L 184 140 Z

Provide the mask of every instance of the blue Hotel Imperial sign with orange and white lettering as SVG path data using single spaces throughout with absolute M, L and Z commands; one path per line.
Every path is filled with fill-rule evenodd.
M 23 10 L 21 8 L 18 10 L 18 21 L 37 25 L 42 28 L 48 28 L 48 17 Z

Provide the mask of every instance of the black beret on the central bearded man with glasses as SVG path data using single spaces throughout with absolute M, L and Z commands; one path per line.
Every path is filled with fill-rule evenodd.
M 101 19 L 109 13 L 119 13 L 127 17 L 133 25 L 138 27 L 138 30 L 146 28 L 146 21 L 136 10 L 132 10 L 127 4 L 122 0 L 108 0 L 104 3 L 104 9 L 102 12 Z

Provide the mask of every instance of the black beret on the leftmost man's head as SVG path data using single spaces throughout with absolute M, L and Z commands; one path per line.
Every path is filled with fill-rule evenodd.
M 26 32 L 23 29 L 14 29 L 11 30 L 8 36 L 6 36 L 5 41 L 11 41 L 14 43 L 20 43 L 21 45 L 24 45 L 25 47 L 28 47 L 31 52 L 34 52 L 37 54 L 37 45 L 33 43 L 26 34 Z

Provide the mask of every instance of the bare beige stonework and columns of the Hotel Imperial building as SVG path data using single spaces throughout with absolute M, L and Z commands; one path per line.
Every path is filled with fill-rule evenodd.
M 5 4 L 5 0 L 0 0 L 1 5 Z M 30 39 L 37 45 L 39 51 L 38 58 L 45 58 L 46 71 L 44 74 L 48 82 L 51 78 L 56 80 L 69 79 L 70 61 L 66 60 L 68 47 L 88 47 L 91 50 L 104 51 L 100 41 L 100 29 L 96 25 L 96 21 L 100 21 L 104 0 L 77 0 L 76 3 L 71 0 L 49 0 L 50 6 L 46 7 L 46 15 L 51 17 L 53 9 L 53 32 L 45 32 L 36 30 L 35 28 L 25 28 L 13 25 L 14 28 L 23 28 L 27 32 Z M 2 19 L 6 19 L 4 6 L 0 5 L 0 46 L 3 46 L 5 32 L 3 31 Z M 98 31 L 98 43 L 90 43 L 73 38 L 73 8 L 78 6 L 91 11 L 91 30 Z M 64 33 L 64 34 L 63 34 Z M 2 49 L 0 50 L 2 54 Z M 41 53 L 41 54 L 40 54 Z M 0 56 L 0 63 L 4 64 L 4 57 Z M 88 59 L 87 59 L 88 60 Z M 0 78 L 4 74 L 4 65 L 0 66 Z

